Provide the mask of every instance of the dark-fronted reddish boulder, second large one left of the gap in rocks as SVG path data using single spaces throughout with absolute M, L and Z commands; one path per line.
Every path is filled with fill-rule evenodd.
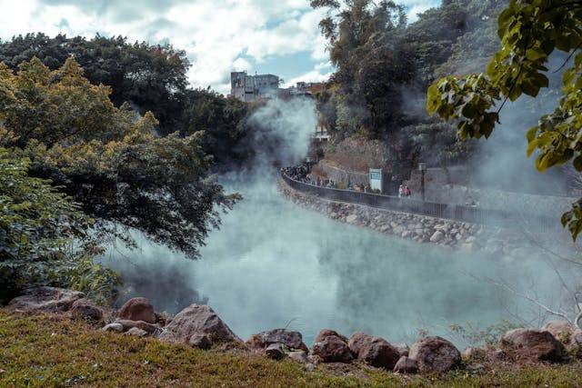
M 380 337 L 366 333 L 355 333 L 347 343 L 349 350 L 356 354 L 358 360 L 363 360 L 372 366 L 386 368 L 391 371 L 400 358 L 398 350 Z

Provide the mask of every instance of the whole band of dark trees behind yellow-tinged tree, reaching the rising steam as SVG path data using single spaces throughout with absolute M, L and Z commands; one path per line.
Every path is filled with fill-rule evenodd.
M 0 62 L 13 71 L 33 57 L 48 69 L 57 70 L 71 56 L 92 85 L 110 87 L 109 98 L 115 107 L 129 103 L 139 114 L 152 112 L 157 133 L 204 131 L 201 144 L 206 154 L 214 156 L 218 167 L 246 160 L 246 150 L 235 148 L 246 135 L 249 106 L 209 89 L 188 87 L 190 63 L 183 50 L 172 45 L 131 44 L 121 36 L 100 35 L 87 40 L 38 33 L 0 42 Z

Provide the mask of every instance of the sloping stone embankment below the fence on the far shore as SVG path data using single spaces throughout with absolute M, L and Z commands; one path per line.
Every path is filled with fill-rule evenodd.
M 337 222 L 366 227 L 382 234 L 394 235 L 417 243 L 437 244 L 462 249 L 467 253 L 483 251 L 487 254 L 510 258 L 539 254 L 537 247 L 532 246 L 531 234 L 524 232 L 510 232 L 426 215 L 399 213 L 366 205 L 329 201 L 298 192 L 282 179 L 279 179 L 277 189 L 293 203 L 325 214 Z M 547 236 L 537 235 L 536 238 L 537 242 L 541 242 Z

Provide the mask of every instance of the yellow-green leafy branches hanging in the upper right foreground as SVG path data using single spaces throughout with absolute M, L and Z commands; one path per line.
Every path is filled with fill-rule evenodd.
M 527 154 L 536 153 L 539 171 L 572 162 L 582 171 L 582 7 L 561 0 L 512 0 L 498 18 L 501 48 L 485 74 L 447 76 L 428 89 L 429 113 L 458 120 L 462 138 L 486 138 L 507 100 L 537 97 L 547 88 L 547 62 L 555 51 L 571 53 L 563 76 L 563 95 L 555 112 L 541 117 L 527 134 Z M 582 231 L 582 200 L 564 214 L 562 224 L 576 240 Z

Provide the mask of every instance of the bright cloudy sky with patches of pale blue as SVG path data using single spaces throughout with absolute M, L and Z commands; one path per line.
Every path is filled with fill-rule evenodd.
M 440 0 L 400 0 L 408 18 Z M 0 0 L 0 39 L 43 32 L 169 42 L 186 50 L 194 87 L 227 94 L 230 72 L 275 74 L 294 85 L 333 72 L 308 0 Z

